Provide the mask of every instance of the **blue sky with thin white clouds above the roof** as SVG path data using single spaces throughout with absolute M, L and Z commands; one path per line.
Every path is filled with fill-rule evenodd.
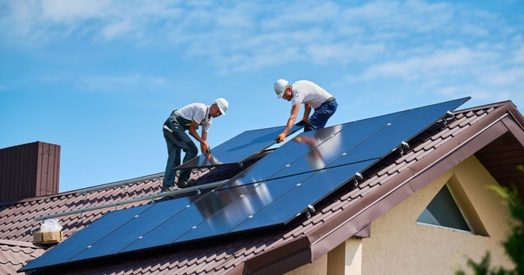
M 0 148 L 61 145 L 60 191 L 163 172 L 162 123 L 189 103 L 230 102 L 211 148 L 285 124 L 279 78 L 331 92 L 328 125 L 522 107 L 524 2 L 0 0 Z

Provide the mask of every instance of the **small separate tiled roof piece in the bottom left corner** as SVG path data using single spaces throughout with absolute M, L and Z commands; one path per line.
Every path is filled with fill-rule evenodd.
M 37 258 L 44 251 L 45 247 L 25 241 L 0 239 L 0 273 L 4 275 L 24 274 L 16 273 L 16 271 L 22 268 L 28 260 Z

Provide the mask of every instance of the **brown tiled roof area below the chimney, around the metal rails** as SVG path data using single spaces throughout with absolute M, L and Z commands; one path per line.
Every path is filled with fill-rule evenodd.
M 250 163 L 244 166 L 244 169 Z M 192 179 L 198 179 L 200 183 L 208 183 L 227 179 L 232 174 L 238 173 L 240 168 L 225 166 L 212 169 L 202 169 L 194 172 Z M 32 241 L 31 233 L 40 228 L 41 222 L 34 221 L 35 217 L 45 216 L 79 210 L 101 204 L 133 199 L 135 197 L 157 194 L 162 185 L 161 177 L 157 179 L 130 183 L 126 186 L 118 186 L 81 194 L 81 190 L 59 193 L 56 195 L 33 197 L 14 203 L 0 204 L 0 239 Z M 149 201 L 140 201 L 119 206 L 120 209 L 147 204 Z M 104 214 L 116 210 L 115 207 L 103 208 L 89 211 L 83 214 L 74 214 L 58 217 L 63 226 L 64 237 L 69 237 L 75 231 L 92 223 Z

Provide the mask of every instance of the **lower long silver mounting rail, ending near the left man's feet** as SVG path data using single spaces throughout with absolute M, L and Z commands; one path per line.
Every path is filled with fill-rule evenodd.
M 147 196 L 135 197 L 133 199 L 129 199 L 129 200 L 125 200 L 125 201 L 118 201 L 118 202 L 112 202 L 112 203 L 107 203 L 107 204 L 100 204 L 100 205 L 96 205 L 96 206 L 92 206 L 92 207 L 86 207 L 86 208 L 81 208 L 81 209 L 76 209 L 76 210 L 56 213 L 56 214 L 49 214 L 49 215 L 45 215 L 45 216 L 39 216 L 39 217 L 35 217 L 33 219 L 34 219 L 34 221 L 42 221 L 43 219 L 46 219 L 46 218 L 54 218 L 54 217 L 74 215 L 74 214 L 78 214 L 78 213 L 84 213 L 84 212 L 88 212 L 88 211 L 94 211 L 94 210 L 99 210 L 99 209 L 103 209 L 103 208 L 108 208 L 108 207 L 113 207 L 113 206 L 118 206 L 118 205 L 123 205 L 123 204 L 128 204 L 128 203 L 134 203 L 134 202 L 139 202 L 139 201 L 155 200 L 155 199 L 160 198 L 160 197 L 171 196 L 171 195 L 178 195 L 178 194 L 183 194 L 183 193 L 189 193 L 191 191 L 195 191 L 195 190 L 199 190 L 199 189 L 209 188 L 209 187 L 213 187 L 213 186 L 219 186 L 219 185 L 223 184 L 226 181 L 227 180 L 211 182 L 211 183 L 206 183 L 206 184 L 202 184 L 202 185 L 191 186 L 191 187 L 184 188 L 184 189 L 177 189 L 177 190 L 173 190 L 173 191 L 169 191 L 169 192 L 163 192 L 163 193 L 157 193 L 157 194 L 152 194 L 152 195 L 147 195 Z

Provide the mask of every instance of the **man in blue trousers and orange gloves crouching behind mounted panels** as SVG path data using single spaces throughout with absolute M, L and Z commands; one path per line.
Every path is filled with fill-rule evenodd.
M 304 115 L 297 126 L 304 126 L 305 132 L 324 128 L 328 119 L 335 113 L 336 107 L 339 106 L 330 93 L 311 81 L 299 80 L 292 85 L 288 84 L 289 82 L 283 79 L 275 82 L 277 97 L 291 101 L 292 104 L 288 123 L 282 134 L 276 138 L 277 143 L 284 141 L 289 130 L 293 127 L 301 103 L 304 104 Z M 309 116 L 311 108 L 314 109 L 314 112 Z

